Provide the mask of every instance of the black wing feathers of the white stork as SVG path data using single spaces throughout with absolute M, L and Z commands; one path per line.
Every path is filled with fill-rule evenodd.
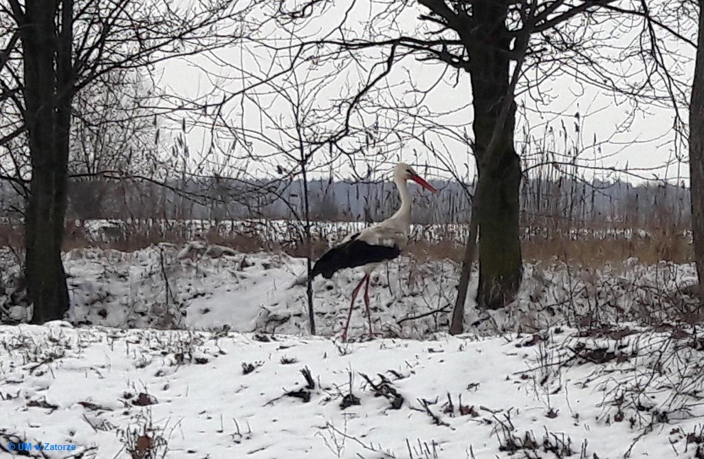
M 313 265 L 310 279 L 322 274 L 329 279 L 332 275 L 344 268 L 356 268 L 368 263 L 381 263 L 393 260 L 401 254 L 398 246 L 377 246 L 357 239 L 360 233 L 354 234 L 351 240 L 333 247 L 327 251 L 320 260 Z

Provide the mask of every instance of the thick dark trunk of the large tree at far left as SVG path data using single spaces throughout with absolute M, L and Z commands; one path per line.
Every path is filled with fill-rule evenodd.
M 63 318 L 68 289 L 61 262 L 68 134 L 73 81 L 70 29 L 73 2 L 27 2 L 22 31 L 26 113 L 32 160 L 30 199 L 25 209 L 25 280 L 34 303 L 32 322 Z M 57 5 L 63 32 L 56 34 Z M 68 42 L 67 42 L 68 40 Z

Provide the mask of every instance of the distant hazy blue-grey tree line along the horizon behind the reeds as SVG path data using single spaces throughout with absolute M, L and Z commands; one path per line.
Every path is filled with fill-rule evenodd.
M 301 215 L 303 208 L 301 180 L 268 184 L 271 191 L 262 182 L 258 192 L 244 199 L 237 186 L 223 185 L 222 179 L 173 180 L 167 184 L 171 186 L 137 180 L 73 180 L 68 191 L 68 217 L 295 219 L 294 215 Z M 434 184 L 441 189 L 439 195 L 415 195 L 413 221 L 467 222 L 471 210 L 465 187 L 450 181 Z M 311 180 L 308 189 L 313 220 L 373 222 L 388 217 L 398 206 L 391 182 Z M 567 226 L 608 221 L 639 227 L 649 225 L 655 218 L 667 218 L 667 224 L 674 225 L 689 225 L 691 221 L 689 188 L 670 184 L 532 179 L 522 183 L 520 198 L 523 225 L 537 224 L 546 218 L 563 219 Z M 20 208 L 20 196 L 1 182 L 0 202 L 4 216 L 19 216 L 13 209 Z

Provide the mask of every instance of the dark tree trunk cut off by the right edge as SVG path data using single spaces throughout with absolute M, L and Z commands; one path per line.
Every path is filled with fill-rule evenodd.
M 698 47 L 689 103 L 692 239 L 700 290 L 704 289 L 704 13 L 701 11 L 703 7 L 700 2 Z

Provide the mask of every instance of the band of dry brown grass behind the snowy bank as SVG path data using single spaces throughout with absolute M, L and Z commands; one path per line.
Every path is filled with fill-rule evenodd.
M 553 227 L 553 230 L 555 227 Z M 569 234 L 564 228 L 561 231 L 551 231 L 545 236 L 532 236 L 522 241 L 524 260 L 562 260 L 568 263 L 596 268 L 604 263 L 622 262 L 630 257 L 638 258 L 641 263 L 657 263 L 659 260 L 670 260 L 675 263 L 687 263 L 693 260 L 693 250 L 689 239 L 684 236 L 686 228 L 652 227 L 642 228 L 647 236 L 634 236 L 627 239 L 622 235 L 607 237 L 580 236 L 564 237 Z M 585 228 L 582 227 L 584 231 Z M 624 229 L 625 230 L 625 229 Z M 587 230 L 586 234 L 602 232 L 603 228 Z M 613 231 L 612 231 L 613 232 Z M 621 232 L 616 232 L 621 234 Z M 267 241 L 258 234 L 221 233 L 215 228 L 201 235 L 208 244 L 227 246 L 243 253 L 253 253 L 262 250 L 284 251 L 291 256 L 303 257 L 308 254 L 305 241 L 295 238 L 287 243 Z M 441 235 L 442 237 L 442 235 Z M 67 225 L 64 249 L 79 249 L 88 246 L 119 251 L 136 251 L 159 242 L 183 244 L 188 240 L 182 228 L 161 228 L 156 225 L 139 227 L 127 225 L 125 230 L 109 241 L 96 241 L 82 227 Z M 318 258 L 327 250 L 327 242 L 314 238 L 312 241 L 313 258 Z M 0 225 L 0 246 L 20 248 L 23 245 L 23 230 L 20 226 Z M 451 259 L 460 262 L 463 259 L 464 246 L 453 240 L 453 234 L 446 234 L 445 239 L 438 244 L 425 240 L 412 241 L 406 251 L 412 253 L 420 262 L 425 260 Z

